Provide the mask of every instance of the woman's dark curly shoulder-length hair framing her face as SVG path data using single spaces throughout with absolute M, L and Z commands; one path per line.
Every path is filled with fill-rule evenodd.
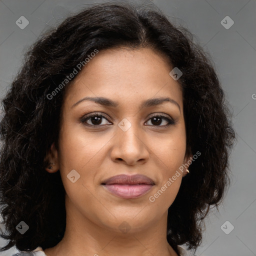
M 168 209 L 166 238 L 196 249 L 204 217 L 218 209 L 230 185 L 229 155 L 236 138 L 231 113 L 210 55 L 187 28 L 173 25 L 156 6 L 106 2 L 86 6 L 56 28 L 44 32 L 28 49 L 24 63 L 2 100 L 0 121 L 0 213 L 9 239 L 0 251 L 56 245 L 65 230 L 65 190 L 59 171 L 45 171 L 45 155 L 58 149 L 64 92 L 47 95 L 93 49 L 150 47 L 178 67 L 182 88 L 187 152 L 201 155 L 189 166 Z M 85 67 L 86 68 L 86 67 Z M 74 78 L 73 78 L 74 79 Z M 21 234 L 23 220 L 29 229 Z

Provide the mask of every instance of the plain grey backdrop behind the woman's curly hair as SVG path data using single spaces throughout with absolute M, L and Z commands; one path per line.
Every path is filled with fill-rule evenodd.
M 48 26 L 57 24 L 84 0 L 0 0 L 0 97 L 21 65 L 26 47 Z M 97 1 L 102 2 L 102 1 Z M 142 1 L 138 1 L 142 2 Z M 232 184 L 220 212 L 206 219 L 203 242 L 196 255 L 256 255 L 256 32 L 255 0 L 153 0 L 171 21 L 187 27 L 209 51 L 233 109 L 237 143 L 230 164 Z M 29 24 L 20 29 L 15 21 L 25 16 Z M 226 29 L 220 21 L 229 16 Z M 230 21 L 224 21 L 227 25 Z M 253 99 L 254 98 L 254 99 Z M 229 221 L 227 224 L 222 224 Z M 230 231 L 226 234 L 222 230 Z M 222 229 L 221 229 L 222 226 Z M 3 228 L 3 225 L 1 226 Z M 224 227 L 224 228 L 223 228 Z M 5 241 L 0 240 L 0 245 Z M 10 255 L 12 249 L 0 255 Z

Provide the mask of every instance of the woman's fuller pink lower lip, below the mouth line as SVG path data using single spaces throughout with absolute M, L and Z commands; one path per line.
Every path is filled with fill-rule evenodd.
M 112 194 L 122 198 L 136 198 L 147 193 L 153 185 L 150 184 L 111 184 L 103 185 Z

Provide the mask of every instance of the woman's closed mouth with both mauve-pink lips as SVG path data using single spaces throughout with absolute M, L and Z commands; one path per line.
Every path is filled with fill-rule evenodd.
M 125 199 L 137 198 L 147 193 L 155 183 L 145 175 L 116 175 L 104 180 L 101 185 L 110 193 Z

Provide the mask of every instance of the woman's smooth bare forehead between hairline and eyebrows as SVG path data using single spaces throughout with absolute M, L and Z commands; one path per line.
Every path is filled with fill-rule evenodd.
M 68 85 L 64 102 L 70 106 L 83 96 L 104 96 L 136 103 L 169 96 L 182 105 L 181 87 L 169 75 L 171 69 L 167 56 L 151 48 L 101 50 Z

